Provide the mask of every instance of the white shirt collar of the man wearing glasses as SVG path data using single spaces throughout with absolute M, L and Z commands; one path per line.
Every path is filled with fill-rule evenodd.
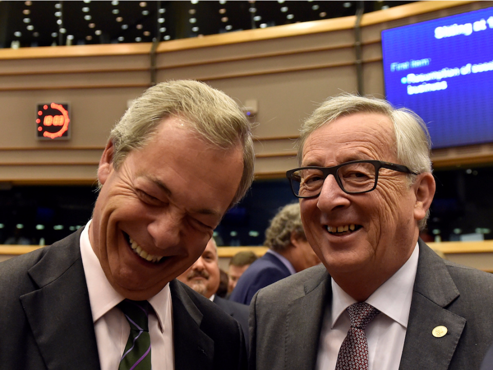
M 384 284 L 376 289 L 366 300 L 392 320 L 407 328 L 411 309 L 412 290 L 416 271 L 418 271 L 419 246 L 414 250 L 406 263 L 395 272 Z M 332 284 L 331 328 L 340 315 L 356 301 L 340 288 L 334 279 Z

